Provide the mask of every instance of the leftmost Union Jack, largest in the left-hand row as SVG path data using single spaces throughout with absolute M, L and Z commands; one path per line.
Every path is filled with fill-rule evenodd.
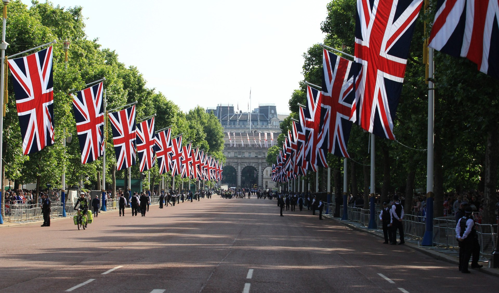
M 8 59 L 21 129 L 22 153 L 54 144 L 52 46 L 25 57 Z

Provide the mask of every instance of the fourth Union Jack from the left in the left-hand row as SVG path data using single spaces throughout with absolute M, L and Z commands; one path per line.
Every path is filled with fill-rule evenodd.
M 140 171 L 144 172 L 154 166 L 156 152 L 154 135 L 154 117 L 137 124 L 137 152 L 139 153 Z

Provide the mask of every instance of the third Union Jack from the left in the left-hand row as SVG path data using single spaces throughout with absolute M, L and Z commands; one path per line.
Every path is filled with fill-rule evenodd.
M 135 105 L 109 113 L 109 122 L 113 131 L 117 169 L 123 170 L 135 165 Z

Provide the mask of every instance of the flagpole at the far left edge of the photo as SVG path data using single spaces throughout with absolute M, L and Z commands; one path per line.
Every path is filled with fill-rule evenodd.
M 8 43 L 5 42 L 5 26 L 7 23 L 7 4 L 9 0 L 2 0 L 3 2 L 3 19 L 2 19 L 2 29 L 1 29 L 1 43 L 0 43 L 0 49 L 1 49 L 1 65 L 0 65 L 0 106 L 3 107 L 3 91 L 5 90 L 3 88 L 5 78 L 5 49 L 7 48 Z M 3 165 L 3 160 L 2 158 L 2 145 L 3 145 L 3 114 L 0 116 L 0 173 L 2 170 L 2 165 Z M 1 182 L 0 182 L 0 198 L 3 199 L 3 176 L 1 176 Z M 3 202 L 3 200 L 1 200 Z M 5 210 L 5 208 L 3 209 Z M 3 224 L 3 219 L 2 219 L 2 213 L 3 211 L 0 208 L 0 224 Z

